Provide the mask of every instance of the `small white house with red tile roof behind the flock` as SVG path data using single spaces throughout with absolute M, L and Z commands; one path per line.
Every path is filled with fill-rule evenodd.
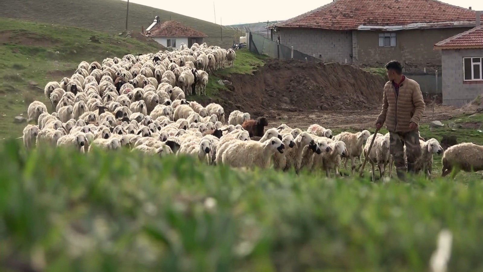
M 208 37 L 205 33 L 177 21 L 158 22 L 158 17 L 151 26 L 144 30 L 144 35 L 153 38 L 161 45 L 173 48 L 179 48 L 182 43 L 188 47 L 194 43 L 202 44 L 203 38 Z

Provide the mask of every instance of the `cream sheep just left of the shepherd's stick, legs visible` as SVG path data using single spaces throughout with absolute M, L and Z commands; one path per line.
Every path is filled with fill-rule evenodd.
M 334 137 L 334 141 L 343 141 L 348 151 L 348 156 L 344 158 L 344 169 L 347 169 L 347 162 L 351 159 L 352 174 L 355 175 L 355 157 L 359 157 L 363 151 L 363 145 L 369 138 L 370 132 L 363 130 L 360 133 L 342 132 Z

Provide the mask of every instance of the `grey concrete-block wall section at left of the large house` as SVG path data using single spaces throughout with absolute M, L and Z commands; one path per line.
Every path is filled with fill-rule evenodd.
M 294 46 L 294 50 L 315 58 L 352 63 L 352 31 L 278 29 L 276 35 L 280 36 L 281 44 Z

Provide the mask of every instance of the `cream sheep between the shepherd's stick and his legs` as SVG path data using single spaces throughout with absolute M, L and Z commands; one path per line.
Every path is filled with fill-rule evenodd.
M 372 141 L 372 137 L 376 137 L 374 140 L 374 144 L 368 154 L 369 145 Z M 389 135 L 382 135 L 378 133 L 377 135 L 371 135 L 367 138 L 366 145 L 364 146 L 364 157 L 367 157 L 371 165 L 371 177 L 372 181 L 375 180 L 375 173 L 374 173 L 374 164 L 377 164 L 379 168 L 379 173 L 381 175 L 381 179 L 384 179 L 385 167 L 389 163 L 390 153 L 389 153 Z M 361 165 L 362 166 L 362 165 Z M 361 167 L 359 166 L 359 168 Z M 361 169 L 360 171 L 363 171 Z

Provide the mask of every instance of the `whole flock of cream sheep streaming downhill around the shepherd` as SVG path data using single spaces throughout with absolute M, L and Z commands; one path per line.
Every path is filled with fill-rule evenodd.
M 100 64 L 83 61 L 70 78 L 45 86 L 54 112 L 49 113 L 40 101 L 28 106 L 28 120 L 36 124 L 25 127 L 24 144 L 28 149 L 40 144 L 74 146 L 81 152 L 127 147 L 161 156 L 189 154 L 210 165 L 267 168 L 273 164 L 275 169 L 295 168 L 297 173 L 323 169 L 327 177 L 331 171 L 339 175 L 341 161 L 346 168 L 349 159 L 354 174 L 355 158 L 362 160 L 364 155 L 372 166 L 372 179 L 375 165 L 381 178 L 386 166 L 392 176 L 388 134 L 375 135 L 368 153 L 374 135 L 367 130 L 333 136 L 318 124 L 305 131 L 286 124 L 268 128 L 266 118 L 254 120 L 239 110 L 231 112 L 226 122 L 222 106 L 186 100 L 193 93 L 204 93 L 208 74 L 224 68 L 226 61 L 233 67 L 235 58 L 232 49 L 182 44 L 173 52 L 129 54 Z M 474 166 L 469 156 L 459 152 L 469 145 L 445 152 L 443 175 L 453 167 L 468 170 L 469 164 Z M 434 138 L 421 138 L 421 147 L 416 168 L 431 175 L 433 154 L 442 148 Z

